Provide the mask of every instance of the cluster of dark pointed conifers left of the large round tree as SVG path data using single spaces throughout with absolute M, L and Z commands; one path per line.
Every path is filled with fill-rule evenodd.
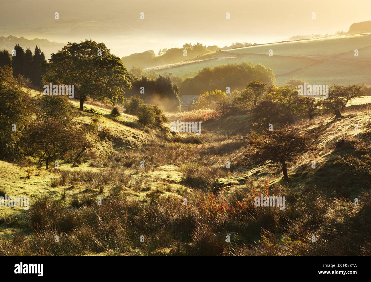
M 34 54 L 30 48 L 26 51 L 16 44 L 12 53 L 4 49 L 0 51 L 0 67 L 12 67 L 13 77 L 25 86 L 40 88 L 45 73 L 46 60 L 44 52 L 35 47 Z

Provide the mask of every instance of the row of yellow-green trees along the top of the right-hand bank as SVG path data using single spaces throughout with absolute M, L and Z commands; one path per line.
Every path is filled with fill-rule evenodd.
M 221 90 L 205 92 L 195 103 L 195 107 L 214 108 L 223 114 L 239 110 L 248 111 L 253 126 L 262 129 L 267 128 L 269 124 L 273 126 L 291 124 L 301 118 L 311 120 L 323 112 L 344 110 L 352 99 L 364 96 L 367 91 L 357 84 L 332 85 L 329 87 L 327 98 L 313 97 L 299 95 L 300 84 L 304 82 L 292 79 L 278 87 L 255 80 L 248 83 L 242 91 L 234 90 L 230 95 Z

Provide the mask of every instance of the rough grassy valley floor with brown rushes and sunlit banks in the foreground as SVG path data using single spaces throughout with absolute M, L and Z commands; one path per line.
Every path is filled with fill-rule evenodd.
M 81 164 L 0 161 L 0 192 L 30 197 L 29 210 L 0 209 L 2 256 L 370 255 L 369 104 L 354 101 L 341 119 L 304 119 L 308 128 L 324 125 L 320 150 L 290 162 L 286 182 L 275 166 L 236 165 L 253 129 L 249 113 L 168 114 L 212 116 L 195 136 L 93 101 L 84 112 L 70 103 L 74 121 L 102 131 L 89 135 L 94 147 Z M 286 196 L 286 208 L 254 206 L 261 194 Z

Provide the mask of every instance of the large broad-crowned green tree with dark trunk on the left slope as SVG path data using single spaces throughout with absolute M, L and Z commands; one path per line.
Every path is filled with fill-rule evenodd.
M 62 51 L 52 54 L 43 78 L 54 84 L 74 85 L 82 111 L 87 97 L 115 105 L 125 100 L 124 89 L 131 88 L 121 60 L 104 43 L 91 39 L 68 43 Z

